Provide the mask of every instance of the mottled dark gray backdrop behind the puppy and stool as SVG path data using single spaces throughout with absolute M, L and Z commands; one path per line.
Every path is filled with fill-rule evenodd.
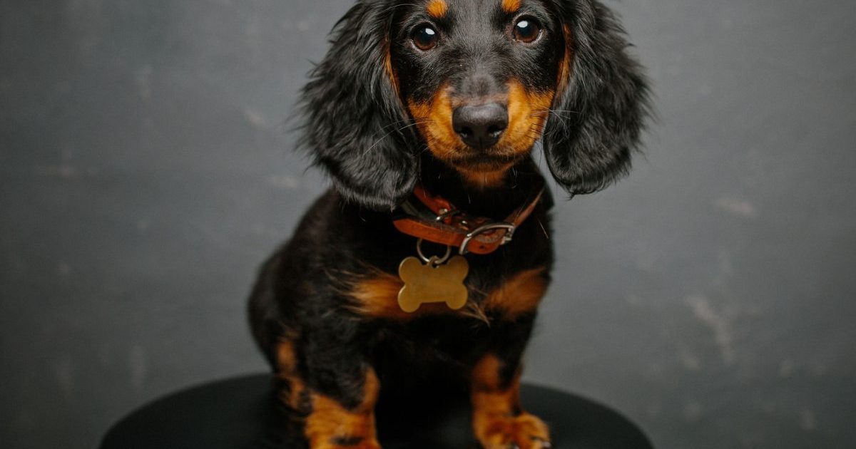
M 282 121 L 348 0 L 0 0 L 0 441 L 86 447 L 265 369 L 259 262 L 324 190 Z M 659 448 L 856 444 L 852 0 L 627 0 L 659 123 L 556 209 L 528 381 Z

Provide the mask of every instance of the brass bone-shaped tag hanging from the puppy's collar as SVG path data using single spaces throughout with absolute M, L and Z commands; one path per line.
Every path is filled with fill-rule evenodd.
M 446 303 L 451 310 L 459 310 L 467 304 L 467 287 L 464 279 L 470 271 L 467 259 L 455 256 L 448 263 L 424 264 L 416 257 L 407 257 L 398 266 L 398 275 L 404 287 L 398 292 L 401 310 L 413 313 L 419 306 L 428 303 Z

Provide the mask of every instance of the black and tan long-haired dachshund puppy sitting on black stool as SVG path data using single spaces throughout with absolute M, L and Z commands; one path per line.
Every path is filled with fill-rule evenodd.
M 570 196 L 627 173 L 649 91 L 625 32 L 597 0 L 358 0 L 330 44 L 300 115 L 333 186 L 249 300 L 276 398 L 312 449 L 378 448 L 378 400 L 436 392 L 484 448 L 549 447 L 519 398 L 553 263 L 531 153 Z

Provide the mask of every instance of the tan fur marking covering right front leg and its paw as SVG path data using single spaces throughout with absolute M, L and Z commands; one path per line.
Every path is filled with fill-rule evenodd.
M 520 410 L 520 371 L 502 389 L 500 369 L 502 361 L 493 355 L 482 358 L 473 369 L 473 433 L 485 449 L 512 443 L 520 449 L 546 447 L 550 430 L 538 417 Z

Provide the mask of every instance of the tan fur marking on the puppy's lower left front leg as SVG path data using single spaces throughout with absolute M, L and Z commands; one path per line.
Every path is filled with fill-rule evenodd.
M 337 438 L 361 438 L 360 448 L 379 448 L 375 432 L 374 406 L 380 381 L 374 369 L 366 370 L 363 401 L 353 410 L 322 394 L 312 393 L 312 413 L 306 417 L 306 439 L 312 449 L 331 449 Z

